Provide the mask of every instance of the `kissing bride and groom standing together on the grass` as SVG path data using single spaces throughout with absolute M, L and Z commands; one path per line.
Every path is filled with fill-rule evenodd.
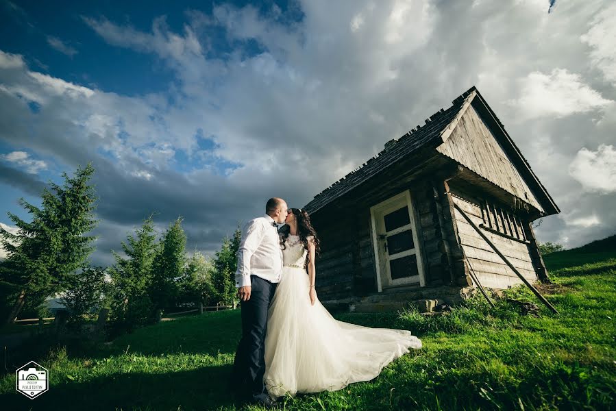
M 276 408 L 287 394 L 341 390 L 421 348 L 410 331 L 334 319 L 317 298 L 319 250 L 308 213 L 280 198 L 243 227 L 235 274 L 242 338 L 229 382 L 238 401 Z

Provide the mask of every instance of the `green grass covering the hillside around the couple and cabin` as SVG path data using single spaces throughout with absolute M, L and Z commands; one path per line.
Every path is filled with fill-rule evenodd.
M 554 284 L 542 290 L 559 314 L 541 306 L 526 288 L 506 295 L 537 303 L 539 318 L 521 314 L 504 299 L 491 309 L 480 298 L 440 316 L 339 314 L 338 319 L 361 325 L 410 329 L 424 347 L 371 382 L 287 398 L 284 408 L 616 408 L 616 253 L 591 251 L 545 258 Z M 14 373 L 9 373 L 0 379 L 0 404 L 7 410 L 235 410 L 225 384 L 240 335 L 239 314 L 188 316 L 138 329 L 108 346 L 68 342 L 42 350 L 40 364 L 51 374 L 49 392 L 27 399 L 14 392 Z M 34 347 L 36 342 L 32 349 L 38 352 Z M 16 366 L 21 364 L 9 362 L 8 371 Z

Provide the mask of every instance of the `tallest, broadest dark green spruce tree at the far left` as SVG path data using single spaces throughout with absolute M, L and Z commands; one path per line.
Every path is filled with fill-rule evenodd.
M 0 227 L 0 241 L 8 253 L 0 264 L 0 287 L 9 295 L 6 323 L 12 323 L 25 299 L 45 301 L 45 297 L 66 290 L 69 276 L 94 250 L 95 236 L 87 236 L 95 227 L 95 192 L 89 183 L 94 173 L 91 163 L 77 168 L 74 177 L 62 173 L 64 184 L 49 182 L 51 190 L 42 192 L 42 206 L 33 206 L 23 198 L 19 203 L 32 214 L 27 223 L 8 212 L 19 228 L 12 234 Z

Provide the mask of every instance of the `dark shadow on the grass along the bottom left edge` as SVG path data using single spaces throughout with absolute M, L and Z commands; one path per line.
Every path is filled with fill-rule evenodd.
M 29 399 L 21 393 L 0 395 L 3 410 L 213 410 L 232 408 L 227 390 L 231 366 L 160 374 L 129 373 L 87 382 L 53 384 Z

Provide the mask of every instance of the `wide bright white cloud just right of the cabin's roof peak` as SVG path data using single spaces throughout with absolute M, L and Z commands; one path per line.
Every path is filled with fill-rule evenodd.
M 517 108 L 522 119 L 544 116 L 558 119 L 606 108 L 614 103 L 584 84 L 580 75 L 569 73 L 567 69 L 554 69 L 549 75 L 534 71 L 519 84 L 520 97 L 508 103 Z

